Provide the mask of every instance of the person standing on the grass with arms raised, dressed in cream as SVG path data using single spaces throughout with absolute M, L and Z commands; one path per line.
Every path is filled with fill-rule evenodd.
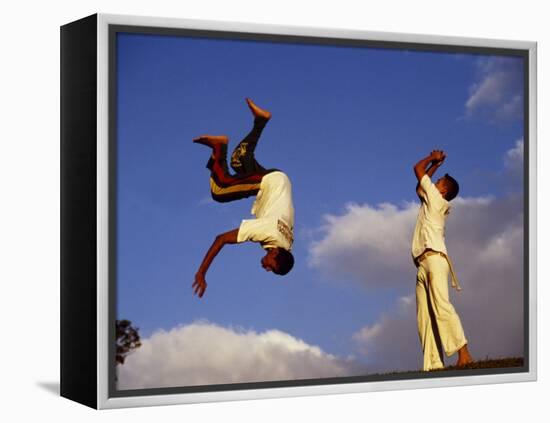
M 445 174 L 434 184 L 431 177 L 446 155 L 434 150 L 414 166 L 418 180 L 416 193 L 421 205 L 412 241 L 417 267 L 416 308 L 420 343 L 424 353 L 423 370 L 443 368 L 443 352 L 458 352 L 457 366 L 471 363 L 468 342 L 460 318 L 449 301 L 448 278 L 460 290 L 445 246 L 445 219 L 449 201 L 458 194 L 458 183 Z

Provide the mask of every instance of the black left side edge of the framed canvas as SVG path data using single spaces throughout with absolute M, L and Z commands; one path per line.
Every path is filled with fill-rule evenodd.
M 60 30 L 60 394 L 97 407 L 97 22 Z

